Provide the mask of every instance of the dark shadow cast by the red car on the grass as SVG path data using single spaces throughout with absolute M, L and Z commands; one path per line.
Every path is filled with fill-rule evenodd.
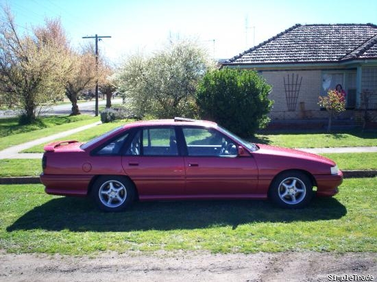
M 335 198 L 315 198 L 306 209 L 280 209 L 269 201 L 167 201 L 135 203 L 121 213 L 104 213 L 86 198 L 62 197 L 35 207 L 7 231 L 148 231 L 202 229 L 252 222 L 332 220 L 347 209 Z

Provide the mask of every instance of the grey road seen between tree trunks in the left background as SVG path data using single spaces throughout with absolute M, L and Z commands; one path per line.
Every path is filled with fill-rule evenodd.
M 112 99 L 112 105 L 121 104 L 122 99 Z M 82 114 L 95 114 L 95 100 L 88 101 L 88 102 L 79 102 L 79 110 Z M 98 105 L 106 105 L 106 99 L 99 99 Z M 45 114 L 71 114 L 71 107 L 72 105 L 69 103 L 62 104 L 62 105 L 54 105 L 46 109 Z M 19 111 L 16 110 L 2 110 L 0 111 L 0 117 L 8 118 L 12 116 L 17 116 Z

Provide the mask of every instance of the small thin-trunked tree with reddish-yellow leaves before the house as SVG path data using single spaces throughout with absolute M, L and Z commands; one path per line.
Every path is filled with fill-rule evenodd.
M 345 110 L 344 94 L 337 90 L 328 90 L 327 96 L 319 96 L 318 105 L 326 108 L 328 111 L 328 127 L 327 131 L 331 131 L 331 119 Z

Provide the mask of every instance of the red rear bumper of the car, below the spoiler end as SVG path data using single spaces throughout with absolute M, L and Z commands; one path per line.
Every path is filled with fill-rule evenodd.
M 39 176 L 45 192 L 62 196 L 86 196 L 93 175 L 44 175 Z

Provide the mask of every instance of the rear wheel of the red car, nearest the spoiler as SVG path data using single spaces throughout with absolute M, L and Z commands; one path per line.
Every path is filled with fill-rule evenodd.
M 102 176 L 95 181 L 92 196 L 103 211 L 122 211 L 134 201 L 134 184 L 121 176 Z

